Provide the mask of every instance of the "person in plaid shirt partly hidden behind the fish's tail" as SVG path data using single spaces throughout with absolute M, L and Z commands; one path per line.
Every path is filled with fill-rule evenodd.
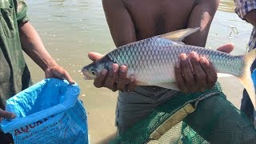
M 256 48 L 256 1 L 255 0 L 234 0 L 235 12 L 240 18 L 253 25 L 253 31 L 250 35 L 249 51 Z M 250 67 L 253 71 L 256 69 L 256 61 Z M 254 106 L 246 90 L 243 90 L 242 102 L 240 108 L 252 122 L 254 122 Z

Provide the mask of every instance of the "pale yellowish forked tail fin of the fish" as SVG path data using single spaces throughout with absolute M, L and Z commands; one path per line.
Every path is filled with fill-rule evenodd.
M 256 93 L 255 93 L 255 87 L 254 86 L 254 81 L 251 77 L 250 73 L 250 66 L 253 64 L 254 60 L 256 58 L 256 49 L 251 50 L 249 53 L 245 54 L 244 56 L 244 71 L 243 74 L 240 78 L 242 81 L 242 85 L 246 88 L 247 93 L 250 96 L 250 100 L 254 105 L 254 126 L 256 126 Z

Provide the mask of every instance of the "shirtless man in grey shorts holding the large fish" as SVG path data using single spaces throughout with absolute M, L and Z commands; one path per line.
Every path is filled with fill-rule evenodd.
M 106 20 L 115 45 L 122 46 L 154 35 L 185 28 L 201 27 L 183 42 L 194 46 L 205 46 L 210 23 L 218 8 L 218 0 L 102 0 Z M 230 53 L 232 45 L 218 50 Z M 102 55 L 90 53 L 93 61 Z M 194 66 L 190 70 L 189 59 Z M 114 64 L 112 70 L 102 70 L 94 80 L 94 86 L 120 90 L 116 110 L 116 125 L 119 134 L 146 118 L 157 106 L 166 102 L 178 91 L 157 86 L 134 86 L 134 77 L 126 78 L 126 66 Z M 204 91 L 217 81 L 214 67 L 194 52 L 181 54 L 175 67 L 178 87 L 182 92 Z

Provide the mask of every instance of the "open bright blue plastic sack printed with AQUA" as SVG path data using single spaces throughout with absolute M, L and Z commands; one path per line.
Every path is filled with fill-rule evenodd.
M 77 84 L 45 79 L 14 95 L 6 110 L 16 114 L 1 129 L 14 143 L 88 143 L 86 110 L 78 100 Z

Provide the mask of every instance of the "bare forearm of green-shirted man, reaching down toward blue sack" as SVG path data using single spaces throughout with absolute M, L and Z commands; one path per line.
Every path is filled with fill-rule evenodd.
M 34 27 L 31 26 L 29 22 L 21 26 L 19 31 L 22 49 L 42 68 L 42 70 L 45 71 L 50 66 L 57 65 L 54 59 L 50 57 L 45 46 L 43 46 L 38 32 L 34 30 Z

